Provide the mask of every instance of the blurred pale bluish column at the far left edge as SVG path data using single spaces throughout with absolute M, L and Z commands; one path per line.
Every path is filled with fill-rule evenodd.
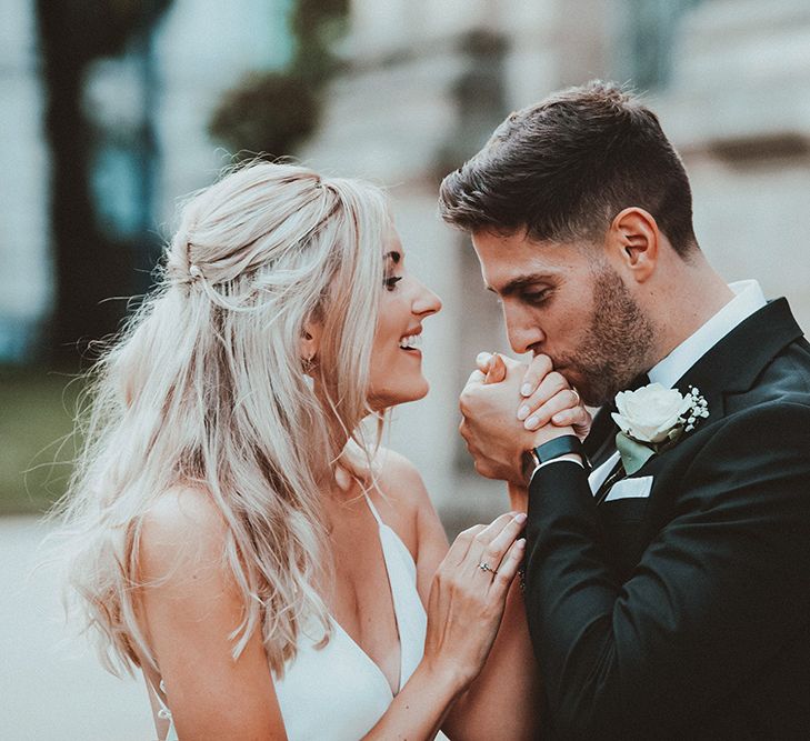
M 51 309 L 49 166 L 33 0 L 0 3 L 0 363 L 30 359 Z

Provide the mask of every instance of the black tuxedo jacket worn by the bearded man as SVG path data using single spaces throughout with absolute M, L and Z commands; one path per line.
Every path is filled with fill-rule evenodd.
M 537 471 L 526 603 L 543 739 L 810 739 L 810 346 L 779 299 L 676 384 L 710 415 L 598 504 Z M 604 451 L 604 414 L 587 441 Z

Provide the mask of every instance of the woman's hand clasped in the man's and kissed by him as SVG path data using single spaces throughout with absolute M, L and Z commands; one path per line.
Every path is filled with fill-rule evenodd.
M 506 375 L 502 356 L 497 353 L 480 353 L 476 358 L 476 364 L 487 374 L 487 383 L 500 381 Z M 572 427 L 580 440 L 588 437 L 591 414 L 582 403 L 579 392 L 564 375 L 553 370 L 548 356 L 539 354 L 532 359 L 523 377 L 521 394 L 523 399 L 518 404 L 517 414 L 527 430 L 538 430 L 550 423 L 554 427 Z

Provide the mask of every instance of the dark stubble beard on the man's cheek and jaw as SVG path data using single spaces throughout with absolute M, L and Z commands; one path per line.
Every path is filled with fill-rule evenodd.
M 572 371 L 569 379 L 590 407 L 611 401 L 649 370 L 654 328 L 619 274 L 609 266 L 594 272 L 593 308 L 579 347 L 554 364 Z

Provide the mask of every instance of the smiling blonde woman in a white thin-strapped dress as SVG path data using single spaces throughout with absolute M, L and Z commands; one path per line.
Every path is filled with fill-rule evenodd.
M 161 739 L 534 733 L 526 515 L 448 550 L 417 471 L 378 447 L 384 411 L 428 391 L 441 307 L 406 262 L 380 190 L 257 162 L 187 202 L 98 362 L 70 584 Z

